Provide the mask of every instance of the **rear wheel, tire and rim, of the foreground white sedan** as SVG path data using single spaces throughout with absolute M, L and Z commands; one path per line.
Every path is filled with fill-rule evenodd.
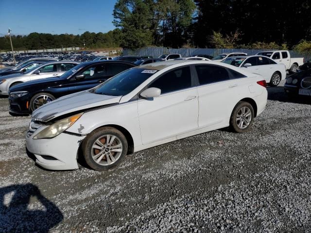
M 236 133 L 249 131 L 254 120 L 254 108 L 249 102 L 240 101 L 234 107 L 230 117 L 230 129 Z

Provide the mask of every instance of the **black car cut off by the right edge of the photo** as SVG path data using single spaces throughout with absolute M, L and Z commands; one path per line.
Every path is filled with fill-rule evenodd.
M 284 84 L 284 89 L 290 97 L 311 97 L 311 69 L 290 76 Z

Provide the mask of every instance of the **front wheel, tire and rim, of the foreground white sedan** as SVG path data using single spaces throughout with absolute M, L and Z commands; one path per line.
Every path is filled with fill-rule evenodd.
M 117 166 L 126 155 L 127 148 L 124 134 L 112 127 L 99 128 L 89 133 L 82 143 L 86 164 L 98 171 Z

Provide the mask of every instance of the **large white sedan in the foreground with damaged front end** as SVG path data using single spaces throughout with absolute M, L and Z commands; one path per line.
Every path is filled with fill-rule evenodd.
M 229 126 L 243 133 L 265 108 L 262 77 L 209 61 L 156 62 L 36 109 L 26 133 L 36 163 L 95 170 L 126 154 Z M 81 153 L 78 153 L 81 148 Z

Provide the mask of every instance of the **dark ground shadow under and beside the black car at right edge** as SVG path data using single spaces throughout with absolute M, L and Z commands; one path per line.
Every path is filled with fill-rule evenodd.
M 276 100 L 280 102 L 311 104 L 310 97 L 304 96 L 289 96 L 285 93 L 283 86 L 269 86 L 267 87 L 268 100 Z

